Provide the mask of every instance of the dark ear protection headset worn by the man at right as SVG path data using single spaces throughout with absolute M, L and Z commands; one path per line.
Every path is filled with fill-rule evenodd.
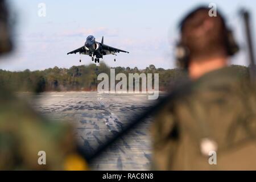
M 192 13 L 193 12 L 195 12 L 195 11 L 192 11 Z M 184 20 L 181 22 L 181 27 L 183 26 L 183 23 L 185 22 L 185 20 L 192 13 L 190 13 L 189 15 L 186 16 L 186 18 L 184 18 Z M 225 26 L 225 21 L 222 18 L 222 16 L 221 16 L 221 19 L 222 19 L 222 22 Z M 232 30 L 227 28 L 226 26 L 225 26 L 225 34 L 226 34 L 226 36 L 225 36 L 226 51 L 228 53 L 228 56 L 233 56 L 239 51 L 239 46 L 236 43 L 236 40 L 234 39 Z M 176 49 L 175 49 L 175 56 L 176 56 L 177 64 L 178 64 L 179 67 L 184 68 L 184 69 L 188 68 L 189 55 L 190 55 L 189 48 L 187 46 L 183 45 L 181 43 L 181 40 L 179 42 L 177 42 Z

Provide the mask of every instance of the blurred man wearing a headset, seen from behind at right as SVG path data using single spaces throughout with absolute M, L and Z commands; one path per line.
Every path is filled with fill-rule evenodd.
M 191 85 L 155 117 L 153 169 L 256 169 L 255 89 L 228 66 L 238 47 L 222 15 L 209 10 L 199 7 L 181 21 L 177 51 Z

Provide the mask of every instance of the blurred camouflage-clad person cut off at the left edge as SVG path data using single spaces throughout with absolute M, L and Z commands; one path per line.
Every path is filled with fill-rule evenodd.
M 12 49 L 10 32 L 8 9 L 0 0 L 0 55 Z M 0 170 L 86 169 L 75 148 L 69 125 L 48 121 L 0 85 Z

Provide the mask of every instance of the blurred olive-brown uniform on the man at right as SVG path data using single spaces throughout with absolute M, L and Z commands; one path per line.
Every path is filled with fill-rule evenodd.
M 256 169 L 256 95 L 241 69 L 222 68 L 192 83 L 152 126 L 153 167 L 158 170 Z M 217 146 L 217 165 L 201 152 Z

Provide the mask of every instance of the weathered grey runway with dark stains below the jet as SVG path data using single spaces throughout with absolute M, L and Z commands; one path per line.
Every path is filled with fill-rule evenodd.
M 114 133 L 122 131 L 130 118 L 146 110 L 154 101 L 146 94 L 106 94 L 97 92 L 46 92 L 33 97 L 32 106 L 57 122 L 70 122 L 76 137 L 88 152 Z M 92 165 L 93 170 L 148 170 L 151 167 L 148 118 L 126 137 L 108 148 Z

